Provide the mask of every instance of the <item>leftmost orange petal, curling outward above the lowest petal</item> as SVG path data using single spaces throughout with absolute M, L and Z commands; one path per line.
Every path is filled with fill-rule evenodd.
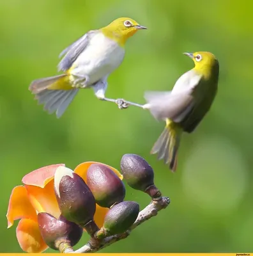
M 37 220 L 36 212 L 29 201 L 26 188 L 23 186 L 17 186 L 12 189 L 6 217 L 8 228 L 13 225 L 15 220 L 22 218 Z

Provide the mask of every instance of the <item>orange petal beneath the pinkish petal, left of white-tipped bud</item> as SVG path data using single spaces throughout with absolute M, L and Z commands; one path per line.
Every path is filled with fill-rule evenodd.
M 54 195 L 54 180 L 50 180 L 44 188 L 25 185 L 29 200 L 37 212 L 47 212 L 55 218 L 59 218 L 61 212 Z

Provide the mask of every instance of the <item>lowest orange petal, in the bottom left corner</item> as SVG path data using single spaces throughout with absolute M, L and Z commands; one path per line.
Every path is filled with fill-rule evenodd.
M 36 221 L 20 220 L 16 234 L 19 245 L 24 252 L 40 253 L 48 248 L 47 244 L 43 241 Z

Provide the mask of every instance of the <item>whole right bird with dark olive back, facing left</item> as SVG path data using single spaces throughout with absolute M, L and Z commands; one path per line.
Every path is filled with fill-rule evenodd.
M 195 67 L 183 74 L 171 92 L 146 92 L 147 104 L 157 120 L 166 122 L 165 129 L 156 141 L 151 154 L 158 154 L 175 172 L 182 132 L 193 132 L 210 110 L 218 88 L 219 64 L 211 52 L 185 55 L 192 58 Z

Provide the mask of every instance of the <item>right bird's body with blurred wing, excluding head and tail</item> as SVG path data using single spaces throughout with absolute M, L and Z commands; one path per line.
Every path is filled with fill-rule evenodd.
M 151 114 L 157 119 L 169 118 L 193 132 L 211 108 L 217 83 L 210 83 L 193 70 L 183 74 L 171 92 L 146 92 Z

